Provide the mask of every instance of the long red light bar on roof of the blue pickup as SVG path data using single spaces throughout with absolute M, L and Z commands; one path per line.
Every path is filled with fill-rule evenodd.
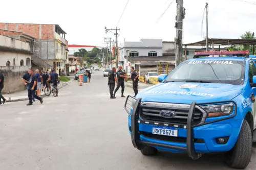
M 211 55 L 249 55 L 249 51 L 215 51 L 215 52 L 195 52 L 196 56 L 211 56 Z

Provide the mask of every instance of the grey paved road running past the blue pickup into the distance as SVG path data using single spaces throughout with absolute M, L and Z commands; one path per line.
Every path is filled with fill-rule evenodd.
M 133 94 L 131 88 L 125 95 Z M 110 100 L 106 78 L 94 71 L 90 84 L 62 88 L 59 97 L 0 107 L 0 169 L 229 169 L 223 155 L 193 161 L 186 154 L 160 152 L 145 157 L 133 148 L 127 129 L 125 99 Z M 247 169 L 256 169 L 253 151 Z

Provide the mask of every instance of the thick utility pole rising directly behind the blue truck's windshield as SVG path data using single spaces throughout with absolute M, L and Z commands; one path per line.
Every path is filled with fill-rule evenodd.
M 177 0 L 177 15 L 176 15 L 176 67 L 182 62 L 182 29 L 183 19 L 185 18 L 185 9 L 183 8 L 183 0 Z

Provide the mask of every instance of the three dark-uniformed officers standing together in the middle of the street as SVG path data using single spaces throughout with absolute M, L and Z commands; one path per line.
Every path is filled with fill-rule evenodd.
M 121 86 L 121 97 L 125 98 L 123 95 L 124 92 L 124 79 L 132 79 L 133 81 L 133 90 L 134 90 L 134 97 L 138 94 L 138 78 L 139 74 L 138 71 L 131 67 L 131 77 L 127 77 L 125 72 L 122 71 L 122 66 L 119 66 L 119 69 L 116 70 L 116 67 L 113 67 L 112 70 L 109 72 L 109 87 L 110 87 L 110 99 L 116 99 L 116 92 Z M 115 85 L 117 86 L 115 89 Z M 115 91 L 114 91 L 115 89 Z

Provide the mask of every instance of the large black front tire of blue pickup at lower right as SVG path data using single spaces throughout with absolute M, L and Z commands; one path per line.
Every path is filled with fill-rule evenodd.
M 232 168 L 246 168 L 251 159 L 252 135 L 251 128 L 244 120 L 237 143 L 226 153 L 225 161 Z

